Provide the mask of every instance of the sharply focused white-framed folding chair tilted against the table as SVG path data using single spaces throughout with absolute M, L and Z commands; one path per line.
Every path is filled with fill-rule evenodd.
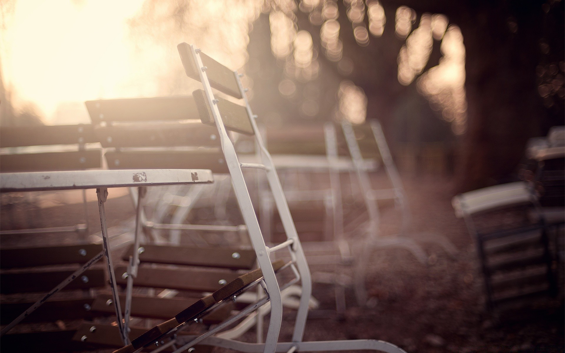
M 241 85 L 240 76 L 236 71 L 231 71 L 222 66 L 209 56 L 201 53 L 201 50 L 186 43 L 178 46 L 182 64 L 186 75 L 196 79 L 203 84 L 204 90 L 193 93 L 197 100 L 199 112 L 203 123 L 215 125 L 219 132 L 221 149 L 224 152 L 230 175 L 232 177 L 233 189 L 237 197 L 242 215 L 249 230 L 249 236 L 255 252 L 260 269 L 263 274 L 264 290 L 271 304 L 270 324 L 267 330 L 265 343 L 244 343 L 228 339 L 214 338 L 212 334 L 225 327 L 210 330 L 200 337 L 192 339 L 180 347 L 176 352 L 186 350 L 195 343 L 202 342 L 216 346 L 232 348 L 240 351 L 334 351 L 334 350 L 357 350 L 370 349 L 386 352 L 402 352 L 402 350 L 390 343 L 374 340 L 350 340 L 350 341 L 324 341 L 324 342 L 302 342 L 306 318 L 308 313 L 308 301 L 311 296 L 311 276 L 306 257 L 298 239 L 296 229 L 279 178 L 276 174 L 270 154 L 264 147 L 260 138 L 254 115 L 251 112 L 245 90 Z M 243 99 L 245 106 L 222 99 L 216 96 L 212 87 L 235 98 Z M 228 130 L 244 133 L 255 138 L 261 152 L 261 163 L 241 163 L 238 160 L 233 143 L 228 136 Z M 275 204 L 286 233 L 286 241 L 272 247 L 265 245 L 257 216 L 255 215 L 253 203 L 247 190 L 242 168 L 255 168 L 266 172 L 267 180 L 275 199 Z M 294 323 L 292 342 L 277 343 L 282 320 L 281 287 L 275 277 L 275 272 L 270 260 L 270 254 L 274 251 L 286 249 L 292 258 L 290 267 L 293 269 L 295 279 L 289 284 L 301 281 L 302 294 Z M 285 284 L 282 288 L 288 286 Z M 229 324 L 229 322 L 228 322 Z

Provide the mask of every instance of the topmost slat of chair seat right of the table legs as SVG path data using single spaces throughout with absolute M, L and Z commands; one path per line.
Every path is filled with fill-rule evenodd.
M 255 265 L 254 250 L 238 249 L 236 247 L 190 247 L 150 244 L 142 246 L 145 251 L 140 254 L 141 262 L 229 269 L 251 269 Z M 124 252 L 123 259 L 128 260 L 132 251 L 133 246 Z

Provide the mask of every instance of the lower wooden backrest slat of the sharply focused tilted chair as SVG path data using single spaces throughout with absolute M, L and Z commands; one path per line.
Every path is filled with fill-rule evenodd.
M 216 126 L 214 122 L 214 115 L 210 110 L 208 105 L 208 100 L 206 94 L 203 90 L 198 89 L 192 93 L 196 106 L 198 107 L 198 113 L 202 123 L 206 125 Z M 220 111 L 221 120 L 224 126 L 228 130 L 239 132 L 242 134 L 253 135 L 253 127 L 251 127 L 251 121 L 249 120 L 249 115 L 244 106 L 227 101 L 221 97 L 216 97 L 218 99 L 218 110 Z

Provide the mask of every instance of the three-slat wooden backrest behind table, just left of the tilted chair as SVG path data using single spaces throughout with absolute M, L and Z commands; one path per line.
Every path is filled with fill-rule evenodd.
M 218 133 L 196 120 L 192 97 L 88 101 L 109 169 L 211 169 L 227 173 Z

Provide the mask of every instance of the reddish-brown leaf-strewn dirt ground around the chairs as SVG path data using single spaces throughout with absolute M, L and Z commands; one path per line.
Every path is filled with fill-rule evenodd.
M 557 298 L 541 298 L 497 320 L 485 311 L 483 278 L 475 246 L 463 220 L 455 217 L 451 207 L 450 179 L 405 175 L 403 182 L 412 213 L 407 237 L 423 246 L 428 264 L 419 263 L 406 250 L 376 249 L 366 268 L 370 305 L 357 306 L 353 290 L 346 290 L 345 315 L 312 313 L 306 325 L 305 341 L 372 338 L 392 342 L 407 352 L 563 352 L 563 291 Z M 20 212 L 15 217 L 4 207 L 2 228 L 21 223 L 62 225 L 66 216 L 80 217 L 81 207 L 60 204 L 41 212 L 29 211 L 24 215 Z M 88 207 L 93 232 L 97 232 L 100 229 L 95 218 L 97 205 L 90 202 Z M 124 196 L 110 199 L 107 212 L 108 224 L 116 225 L 131 217 L 134 210 Z M 399 219 L 399 212 L 383 207 L 384 236 L 396 232 Z M 457 254 L 449 256 L 436 243 L 421 241 L 422 233 L 446 237 L 457 248 Z M 55 244 L 69 239 L 49 234 L 41 238 L 2 236 L 0 245 Z M 312 272 L 315 270 L 313 267 Z M 320 301 L 321 310 L 326 313 L 333 310 L 331 285 L 315 284 L 313 295 Z M 280 341 L 291 338 L 293 317 L 292 311 L 285 314 Z M 243 337 L 245 341 L 253 338 L 253 332 Z

